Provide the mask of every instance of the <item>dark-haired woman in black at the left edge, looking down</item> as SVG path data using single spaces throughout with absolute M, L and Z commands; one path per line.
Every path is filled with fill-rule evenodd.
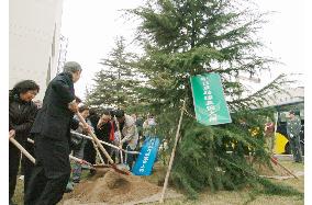
M 37 107 L 32 100 L 38 93 L 40 87 L 33 80 L 23 80 L 9 91 L 9 132 L 23 147 L 36 116 Z M 16 175 L 21 151 L 9 143 L 9 200 L 12 203 L 16 185 Z

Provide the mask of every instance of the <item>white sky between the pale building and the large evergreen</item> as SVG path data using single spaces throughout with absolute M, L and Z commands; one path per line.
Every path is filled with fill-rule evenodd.
M 65 0 L 60 33 L 68 38 L 66 60 L 82 66 L 80 80 L 75 84 L 76 94 L 85 99 L 94 73 L 101 69 L 100 59 L 114 47 L 116 36 L 133 39 L 135 22 L 121 16 L 122 9 L 134 9 L 141 0 Z

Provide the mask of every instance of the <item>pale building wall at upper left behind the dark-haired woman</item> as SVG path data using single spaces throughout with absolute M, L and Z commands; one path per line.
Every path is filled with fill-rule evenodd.
M 36 81 L 42 100 L 56 76 L 63 0 L 9 1 L 9 89 L 21 81 Z

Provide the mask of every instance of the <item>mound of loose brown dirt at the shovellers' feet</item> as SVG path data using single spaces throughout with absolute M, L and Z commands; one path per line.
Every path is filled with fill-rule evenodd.
M 145 181 L 142 176 L 104 170 L 76 185 L 74 192 L 64 196 L 64 204 L 123 204 L 140 201 L 160 190 L 161 187 Z

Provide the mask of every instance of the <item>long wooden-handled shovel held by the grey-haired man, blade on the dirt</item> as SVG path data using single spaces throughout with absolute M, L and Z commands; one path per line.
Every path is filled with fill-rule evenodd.
M 83 126 L 88 127 L 89 125 L 86 123 L 85 118 L 81 116 L 81 114 L 79 112 L 76 113 L 78 118 L 80 119 L 80 122 L 83 124 Z M 111 156 L 108 153 L 108 151 L 105 150 L 105 148 L 102 146 L 102 144 L 100 143 L 100 140 L 98 139 L 98 137 L 94 135 L 93 132 L 90 132 L 89 135 L 93 138 L 93 140 L 96 141 L 96 144 L 98 145 L 98 147 L 100 148 L 100 150 L 104 153 L 104 156 L 108 158 L 109 162 L 111 163 L 111 168 L 113 168 L 116 172 L 119 173 L 123 173 L 126 175 L 130 175 L 131 172 L 127 171 L 126 169 L 123 169 L 123 167 L 121 166 L 116 166 L 114 163 L 114 161 L 112 160 Z

